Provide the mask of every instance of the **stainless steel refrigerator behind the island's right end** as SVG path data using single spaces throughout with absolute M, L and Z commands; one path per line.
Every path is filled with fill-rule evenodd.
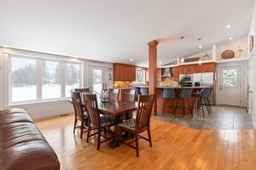
M 203 73 L 194 73 L 193 82 L 200 82 L 201 86 L 212 86 L 214 82 L 214 73 L 213 72 L 203 72 Z M 210 97 L 210 102 L 213 105 L 214 96 Z

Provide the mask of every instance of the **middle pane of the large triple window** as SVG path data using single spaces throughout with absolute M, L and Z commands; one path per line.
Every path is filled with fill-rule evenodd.
M 42 64 L 42 99 L 61 98 L 61 62 L 44 61 Z

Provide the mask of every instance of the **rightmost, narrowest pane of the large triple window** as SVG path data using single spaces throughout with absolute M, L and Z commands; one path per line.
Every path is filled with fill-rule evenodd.
M 70 97 L 73 88 L 80 88 L 80 65 L 76 63 L 66 64 L 66 97 Z

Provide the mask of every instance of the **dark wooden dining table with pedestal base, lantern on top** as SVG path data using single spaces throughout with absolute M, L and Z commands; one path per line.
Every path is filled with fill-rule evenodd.
M 69 100 L 72 102 L 72 100 Z M 118 146 L 117 143 L 117 125 L 121 122 L 121 117 L 125 113 L 129 113 L 132 111 L 137 111 L 137 102 L 134 101 L 121 101 L 121 100 L 114 100 L 108 102 L 102 102 L 100 98 L 97 99 L 98 103 L 98 110 L 104 116 L 113 117 L 115 126 L 114 126 L 114 138 L 108 143 L 110 148 L 115 148 Z M 84 106 L 84 102 L 82 103 Z M 85 107 L 84 107 L 85 108 Z

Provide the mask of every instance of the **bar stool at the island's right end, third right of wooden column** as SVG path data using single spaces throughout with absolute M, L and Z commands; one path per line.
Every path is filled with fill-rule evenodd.
M 205 116 L 205 107 L 207 108 L 208 115 L 210 116 L 210 94 L 211 94 L 212 88 L 205 88 L 200 94 L 194 94 L 194 101 L 193 101 L 193 108 L 195 105 L 195 99 L 197 99 L 197 105 L 196 105 L 196 114 L 198 115 L 198 111 L 201 109 L 203 116 Z M 204 101 L 204 103 L 203 103 Z M 211 104 L 210 104 L 211 105 Z

